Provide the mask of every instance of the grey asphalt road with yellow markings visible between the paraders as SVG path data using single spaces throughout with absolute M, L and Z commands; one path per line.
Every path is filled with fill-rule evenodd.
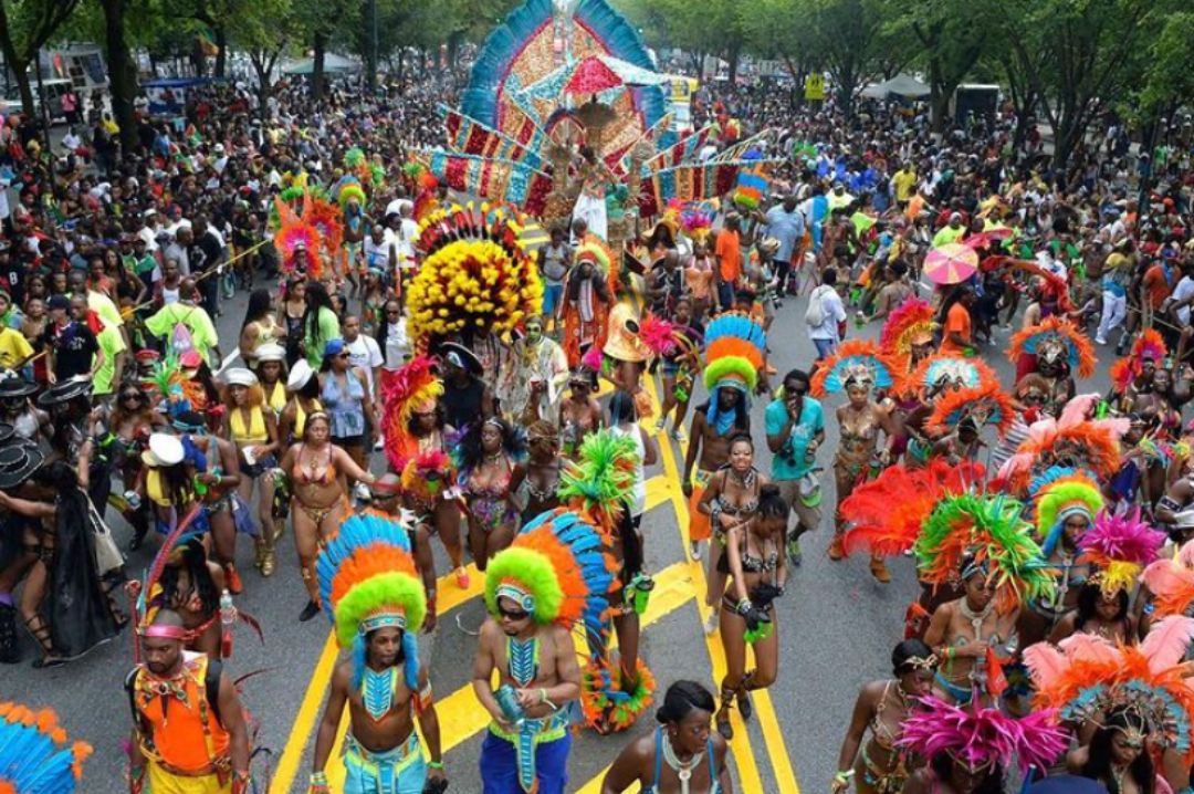
M 802 321 L 805 302 L 805 298 L 788 298 L 771 328 L 771 362 L 781 375 L 795 367 L 807 369 L 814 356 Z M 239 294 L 226 303 L 217 321 L 226 351 L 235 346 L 244 304 L 245 295 Z M 851 327 L 850 333 L 875 337 L 878 327 L 873 325 L 861 332 Z M 1005 383 L 1013 371 L 1004 352 L 1009 334 L 999 330 L 998 344 L 981 350 Z M 1100 352 L 1100 369 L 1106 373 L 1112 353 L 1106 349 Z M 1103 373 L 1095 383 L 1083 383 L 1085 390 L 1104 389 Z M 830 450 L 837 443 L 832 412 L 838 405 L 838 398 L 825 405 L 829 439 L 819 464 L 826 468 Z M 768 470 L 769 453 L 762 444 L 763 410 L 764 402 L 756 400 L 751 417 L 759 442 L 759 466 Z M 663 436 L 657 438 L 665 441 Z M 683 453 L 677 444 L 669 443 L 670 453 L 647 472 L 651 481 L 644 531 L 648 568 L 657 574 L 659 587 L 646 617 L 642 654 L 654 671 L 660 693 L 681 677 L 702 681 L 716 690 L 724 660 L 719 644 L 707 641 L 701 632 L 703 574 L 684 559 L 683 528 L 677 521 L 685 509 L 676 476 Z M 375 456 L 374 463 L 375 468 L 382 464 L 381 455 Z M 872 579 L 867 560 L 861 556 L 838 564 L 827 559 L 831 478 L 825 478 L 824 488 L 823 525 L 818 533 L 805 536 L 804 565 L 789 576 L 787 593 L 778 602 L 782 648 L 778 681 L 769 693 L 756 696 L 753 720 L 746 727 L 737 722 L 738 738 L 732 744 L 737 790 L 768 794 L 800 788 L 829 790 L 857 689 L 890 675 L 891 648 L 900 639 L 904 609 L 916 596 L 909 559 L 892 564 L 894 581 L 886 586 Z M 113 524 L 117 540 L 123 543 L 128 528 L 118 519 Z M 275 780 L 269 790 L 273 794 L 306 790 L 314 725 L 334 659 L 326 620 L 319 616 L 308 623 L 297 622 L 306 596 L 290 537 L 288 531 L 279 544 L 278 572 L 269 581 L 252 570 L 251 544 L 242 540 L 238 549 L 240 567 L 247 572 L 239 607 L 261 622 L 265 642 L 261 645 L 251 633 L 240 630 L 230 669 L 238 675 L 264 670 L 248 683 L 245 701 L 260 721 L 258 744 L 271 751 Z M 436 556 L 438 570 L 445 571 L 447 560 L 438 544 Z M 150 558 L 149 549 L 130 555 L 130 572 L 140 574 Z M 478 752 L 486 720 L 468 684 L 475 639 L 461 628 L 475 630 L 482 618 L 479 585 L 480 577 L 475 574 L 467 593 L 442 580 L 439 627 L 421 640 L 421 655 L 431 665 L 444 743 L 449 747 L 445 763 L 450 790 L 455 792 L 481 788 Z M 128 737 L 129 715 L 121 682 L 131 665 L 130 644 L 125 632 L 81 660 L 38 671 L 29 665 L 36 652 L 26 636 L 24 661 L 6 667 L 0 683 L 0 700 L 14 697 L 32 706 L 54 707 L 72 738 L 94 745 L 96 755 L 86 764 L 82 786 L 90 794 L 125 790 L 122 741 Z M 630 733 L 638 735 L 652 725 L 648 714 Z M 601 738 L 583 733 L 572 752 L 570 790 L 599 792 L 604 768 L 628 739 L 628 735 Z M 334 768 L 331 771 L 334 781 L 338 773 Z

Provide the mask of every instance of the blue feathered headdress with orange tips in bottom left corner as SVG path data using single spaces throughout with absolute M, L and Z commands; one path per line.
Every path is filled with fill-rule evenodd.
M 92 753 L 86 741 L 68 744 L 53 709 L 0 703 L 0 792 L 72 794 Z

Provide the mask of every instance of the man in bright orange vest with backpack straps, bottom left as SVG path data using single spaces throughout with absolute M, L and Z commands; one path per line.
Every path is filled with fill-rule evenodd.
M 220 661 L 183 650 L 185 633 L 167 609 L 141 629 L 144 661 L 124 681 L 133 708 L 129 790 L 246 794 L 248 730 L 236 688 Z

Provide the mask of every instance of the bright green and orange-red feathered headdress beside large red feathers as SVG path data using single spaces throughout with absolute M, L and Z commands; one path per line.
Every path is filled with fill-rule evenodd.
M 940 585 L 981 572 L 996 584 L 1004 613 L 1052 595 L 1057 585 L 1022 511 L 1021 503 L 1003 494 L 960 494 L 938 501 L 912 548 L 921 580 Z M 964 560 L 968 571 L 961 570 Z

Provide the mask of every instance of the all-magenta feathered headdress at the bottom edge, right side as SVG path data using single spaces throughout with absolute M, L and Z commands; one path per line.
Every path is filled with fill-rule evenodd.
M 1030 768 L 1048 769 L 1070 744 L 1053 710 L 1017 720 L 997 708 L 984 708 L 977 697 L 967 706 L 952 706 L 933 695 L 921 702 L 925 708 L 909 712 L 896 740 L 921 758 L 947 752 L 970 769 L 1015 758 L 1027 774 Z

